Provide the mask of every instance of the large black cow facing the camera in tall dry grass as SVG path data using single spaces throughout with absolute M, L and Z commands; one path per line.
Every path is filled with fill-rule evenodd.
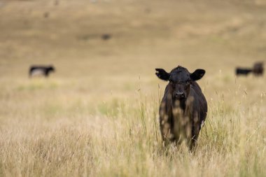
M 187 141 L 193 149 L 207 116 L 207 101 L 195 82 L 205 74 L 203 69 L 190 73 L 178 66 L 170 73 L 155 69 L 158 78 L 169 81 L 160 104 L 160 131 L 165 143 Z

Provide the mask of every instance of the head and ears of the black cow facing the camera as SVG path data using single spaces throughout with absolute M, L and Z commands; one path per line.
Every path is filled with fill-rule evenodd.
M 190 73 L 188 69 L 182 66 L 176 67 L 170 73 L 164 69 L 155 70 L 158 78 L 169 81 L 169 93 L 172 95 L 173 101 L 186 99 L 190 93 L 191 83 L 201 79 L 205 74 L 204 69 L 197 69 Z

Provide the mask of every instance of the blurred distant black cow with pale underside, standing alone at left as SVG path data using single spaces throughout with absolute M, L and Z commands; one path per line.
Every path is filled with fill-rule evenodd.
M 31 76 L 45 76 L 48 77 L 50 72 L 55 72 L 54 66 L 30 66 L 29 77 Z

